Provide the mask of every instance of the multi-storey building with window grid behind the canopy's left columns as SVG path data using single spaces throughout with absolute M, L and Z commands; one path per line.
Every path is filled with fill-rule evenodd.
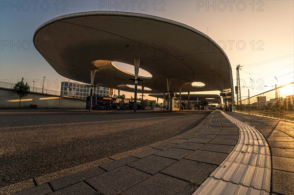
M 100 96 L 108 96 L 108 93 L 109 93 L 108 87 L 95 86 L 93 90 L 93 94 L 98 94 Z M 72 83 L 72 82 L 61 82 L 61 89 L 60 89 L 61 96 L 74 97 L 78 99 L 86 99 L 87 95 L 89 94 L 90 94 L 89 85 Z

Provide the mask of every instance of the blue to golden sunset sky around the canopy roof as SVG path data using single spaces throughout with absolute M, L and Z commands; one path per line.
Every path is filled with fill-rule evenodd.
M 148 14 L 203 32 L 228 56 L 234 85 L 236 66 L 243 66 L 242 99 L 248 89 L 252 96 L 294 81 L 293 0 L 1 0 L 0 81 L 16 83 L 24 77 L 31 86 L 35 81 L 42 87 L 46 76 L 44 88 L 60 90 L 68 78 L 56 73 L 34 48 L 33 34 L 50 19 L 85 11 Z M 131 95 L 122 93 L 127 98 Z

